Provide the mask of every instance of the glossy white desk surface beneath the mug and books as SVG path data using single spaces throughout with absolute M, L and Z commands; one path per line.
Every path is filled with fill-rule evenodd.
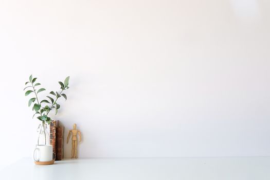
M 270 157 L 79 158 L 34 165 L 23 158 L 0 172 L 1 179 L 73 180 L 264 180 Z

